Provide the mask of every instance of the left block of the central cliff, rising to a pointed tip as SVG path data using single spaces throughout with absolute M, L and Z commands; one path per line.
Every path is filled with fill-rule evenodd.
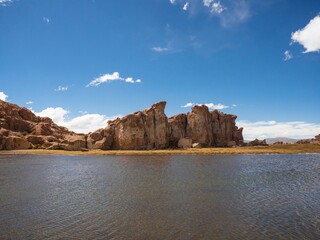
M 88 134 L 89 149 L 164 149 L 169 147 L 166 102 L 108 122 L 104 130 Z

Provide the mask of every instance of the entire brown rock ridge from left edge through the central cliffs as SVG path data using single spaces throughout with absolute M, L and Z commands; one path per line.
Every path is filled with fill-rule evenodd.
M 88 135 L 76 134 L 27 108 L 0 100 L 0 150 L 13 149 L 165 149 L 225 147 L 243 143 L 235 115 L 195 106 L 192 112 L 167 118 L 166 102 L 109 121 Z

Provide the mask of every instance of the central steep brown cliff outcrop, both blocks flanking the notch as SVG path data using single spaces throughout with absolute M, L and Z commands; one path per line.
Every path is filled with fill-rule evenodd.
M 166 102 L 158 102 L 144 111 L 109 121 L 106 128 L 88 135 L 88 148 L 165 149 L 181 146 L 179 142 L 197 147 L 226 147 L 243 142 L 242 128 L 236 127 L 235 115 L 209 111 L 202 105 L 194 106 L 191 113 L 168 119 L 165 106 Z

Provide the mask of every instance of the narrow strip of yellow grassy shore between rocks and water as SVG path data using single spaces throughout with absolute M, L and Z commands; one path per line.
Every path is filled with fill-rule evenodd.
M 137 155 L 219 155 L 219 154 L 301 154 L 320 153 L 319 144 L 287 144 L 256 147 L 233 148 L 191 148 L 191 149 L 164 149 L 164 150 L 1 150 L 0 155 L 75 155 L 75 156 L 137 156 Z

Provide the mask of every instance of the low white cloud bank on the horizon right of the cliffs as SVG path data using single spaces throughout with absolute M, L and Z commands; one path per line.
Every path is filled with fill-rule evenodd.
M 288 137 L 295 139 L 312 138 L 320 133 L 320 123 L 276 122 L 276 121 L 237 121 L 237 126 L 243 127 L 245 140 Z

